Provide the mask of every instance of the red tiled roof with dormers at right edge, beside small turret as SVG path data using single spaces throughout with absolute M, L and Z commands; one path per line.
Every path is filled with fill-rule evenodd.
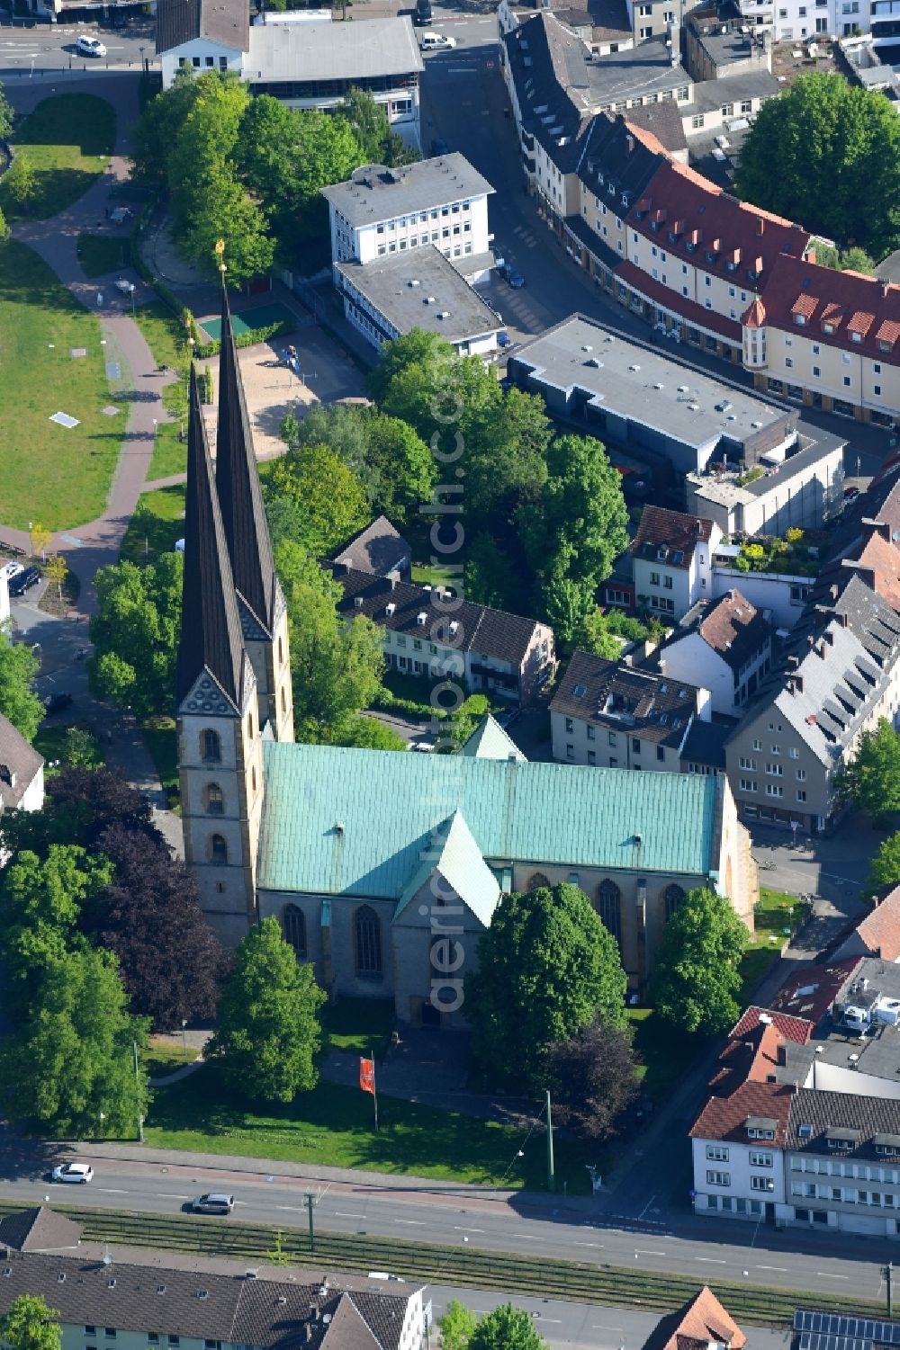
M 776 328 L 793 331 L 793 316 L 804 315 L 815 342 L 900 366 L 900 286 L 780 254 L 762 288 L 762 301 L 768 323 Z M 845 323 L 843 315 L 849 316 Z M 834 331 L 826 332 L 823 323 Z M 888 343 L 889 350 L 878 343 Z

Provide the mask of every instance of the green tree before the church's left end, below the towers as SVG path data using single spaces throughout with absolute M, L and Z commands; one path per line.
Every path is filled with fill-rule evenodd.
M 207 1057 L 220 1064 L 226 1084 L 242 1096 L 292 1102 L 319 1081 L 315 1057 L 324 1002 L 312 965 L 297 965 L 278 921 L 262 919 L 238 945 Z

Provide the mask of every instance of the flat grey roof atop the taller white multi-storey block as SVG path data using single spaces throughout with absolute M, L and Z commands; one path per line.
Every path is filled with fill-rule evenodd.
M 369 28 L 377 20 L 366 20 Z M 393 23 L 393 19 L 385 23 Z M 305 26 L 304 26 L 305 27 Z M 435 159 L 420 159 L 415 165 L 386 169 L 384 165 L 364 165 L 347 182 L 335 182 L 322 189 L 322 196 L 341 212 L 351 225 L 372 225 L 380 220 L 393 220 L 411 211 L 446 207 L 468 197 L 482 197 L 493 188 L 473 169 L 465 155 L 455 151 Z

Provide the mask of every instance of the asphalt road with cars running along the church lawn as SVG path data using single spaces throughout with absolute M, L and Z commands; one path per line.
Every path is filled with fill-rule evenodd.
M 154 1214 L 177 1214 L 203 1191 L 228 1189 L 236 1197 L 235 1216 L 247 1222 L 304 1227 L 304 1195 L 319 1196 L 316 1224 L 332 1233 L 359 1233 L 407 1241 L 470 1243 L 488 1251 L 519 1251 L 564 1257 L 614 1266 L 631 1266 L 659 1273 L 681 1272 L 699 1278 L 732 1280 L 857 1297 L 882 1296 L 881 1261 L 885 1243 L 865 1238 L 828 1238 L 820 1233 L 792 1228 L 776 1233 L 766 1226 L 696 1219 L 686 1215 L 674 1237 L 662 1226 L 616 1227 L 608 1216 L 603 1226 L 592 1222 L 589 1204 L 526 1208 L 514 1199 L 482 1195 L 454 1195 L 451 1188 L 420 1192 L 408 1188 L 380 1189 L 358 1179 L 315 1183 L 304 1177 L 228 1172 L 215 1165 L 199 1166 L 142 1162 L 103 1157 L 86 1145 L 78 1158 L 89 1158 L 95 1181 L 81 1189 L 53 1185 L 49 1168 L 18 1162 L 8 1156 L 0 1162 L 0 1197 L 26 1203 L 89 1203 L 97 1208 L 119 1208 Z M 214 1164 L 214 1160 L 209 1158 Z M 597 1216 L 599 1218 L 599 1216 Z M 441 1277 L 441 1268 L 434 1280 Z

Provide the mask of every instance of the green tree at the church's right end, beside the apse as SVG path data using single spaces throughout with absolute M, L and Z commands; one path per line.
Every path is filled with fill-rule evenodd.
M 716 1035 L 741 1008 L 739 963 L 747 930 L 727 895 L 691 891 L 666 923 L 650 979 L 657 1014 L 680 1031 Z

